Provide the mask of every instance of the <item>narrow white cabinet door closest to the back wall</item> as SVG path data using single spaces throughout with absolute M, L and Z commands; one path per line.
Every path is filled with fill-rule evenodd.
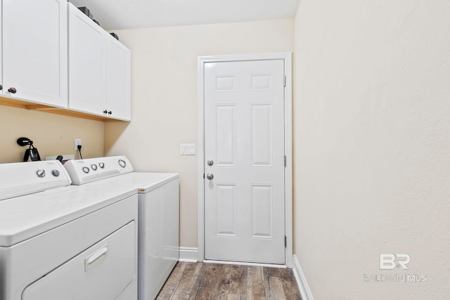
M 105 38 L 106 106 L 110 116 L 131 119 L 131 51 L 108 34 Z

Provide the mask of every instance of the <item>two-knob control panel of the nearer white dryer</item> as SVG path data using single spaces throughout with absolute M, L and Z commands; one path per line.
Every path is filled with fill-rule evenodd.
M 70 185 L 58 160 L 0 164 L 0 200 Z

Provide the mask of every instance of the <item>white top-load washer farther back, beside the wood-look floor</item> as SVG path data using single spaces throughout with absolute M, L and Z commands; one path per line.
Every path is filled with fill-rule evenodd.
M 69 161 L 64 167 L 72 184 L 104 190 L 122 185 L 138 192 L 138 299 L 155 299 L 179 260 L 179 175 L 134 172 L 123 155 Z

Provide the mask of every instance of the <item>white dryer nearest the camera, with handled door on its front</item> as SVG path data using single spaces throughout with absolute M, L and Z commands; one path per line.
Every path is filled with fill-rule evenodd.
M 137 298 L 135 189 L 70 185 L 58 161 L 0 181 L 0 300 Z

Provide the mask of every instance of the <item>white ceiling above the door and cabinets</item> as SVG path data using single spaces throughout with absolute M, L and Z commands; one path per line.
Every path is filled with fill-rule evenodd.
M 69 0 L 105 30 L 293 18 L 300 0 Z

